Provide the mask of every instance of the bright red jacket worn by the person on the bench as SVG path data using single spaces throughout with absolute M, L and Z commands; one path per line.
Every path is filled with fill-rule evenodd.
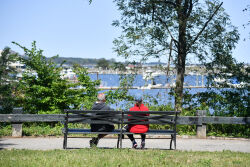
M 135 106 L 130 108 L 129 111 L 148 111 L 148 108 L 144 106 L 144 104 L 141 104 L 140 107 L 135 104 Z M 149 114 L 145 114 L 145 116 L 149 116 Z M 146 133 L 148 131 L 148 128 L 149 128 L 149 125 L 145 125 L 145 124 L 128 125 L 129 132 L 132 132 L 132 133 Z

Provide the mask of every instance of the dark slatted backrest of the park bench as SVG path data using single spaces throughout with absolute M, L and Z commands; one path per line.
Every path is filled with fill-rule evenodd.
M 175 111 L 64 110 L 65 120 L 87 124 L 175 124 Z M 147 114 L 147 115 L 146 115 Z M 149 116 L 148 116 L 149 115 Z

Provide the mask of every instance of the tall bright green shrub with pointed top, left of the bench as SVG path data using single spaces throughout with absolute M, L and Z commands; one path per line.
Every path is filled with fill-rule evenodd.
M 20 81 L 19 90 L 23 93 L 20 105 L 28 113 L 61 113 L 68 107 L 66 80 L 60 77 L 61 67 L 57 67 L 51 59 L 46 60 L 43 51 L 36 48 L 27 49 L 13 42 L 24 50 L 20 60 L 26 65 L 27 71 Z

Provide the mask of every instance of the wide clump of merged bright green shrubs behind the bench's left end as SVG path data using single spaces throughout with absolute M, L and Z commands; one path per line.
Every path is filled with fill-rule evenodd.
M 27 49 L 18 43 L 25 55 L 20 60 L 26 64 L 27 71 L 20 81 L 19 105 L 27 113 L 55 114 L 62 113 L 69 107 L 89 109 L 96 99 L 100 81 L 91 81 L 87 70 L 79 65 L 74 66 L 78 82 L 72 83 L 61 77 L 62 64 L 57 66 L 51 59 L 46 59 L 42 50 Z M 80 88 L 80 89 L 79 89 Z

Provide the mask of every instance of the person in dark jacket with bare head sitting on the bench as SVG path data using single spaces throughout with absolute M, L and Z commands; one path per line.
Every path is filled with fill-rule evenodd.
M 92 106 L 92 110 L 113 110 L 105 104 L 106 98 L 104 93 L 99 93 L 97 96 L 97 102 Z M 101 114 L 99 114 L 101 115 Z M 105 114 L 104 114 L 105 115 Z M 91 124 L 91 132 L 112 132 L 114 130 L 114 125 L 109 124 Z M 107 134 L 98 134 L 97 137 L 93 137 L 90 141 L 90 147 L 97 146 L 99 140 L 106 136 Z

